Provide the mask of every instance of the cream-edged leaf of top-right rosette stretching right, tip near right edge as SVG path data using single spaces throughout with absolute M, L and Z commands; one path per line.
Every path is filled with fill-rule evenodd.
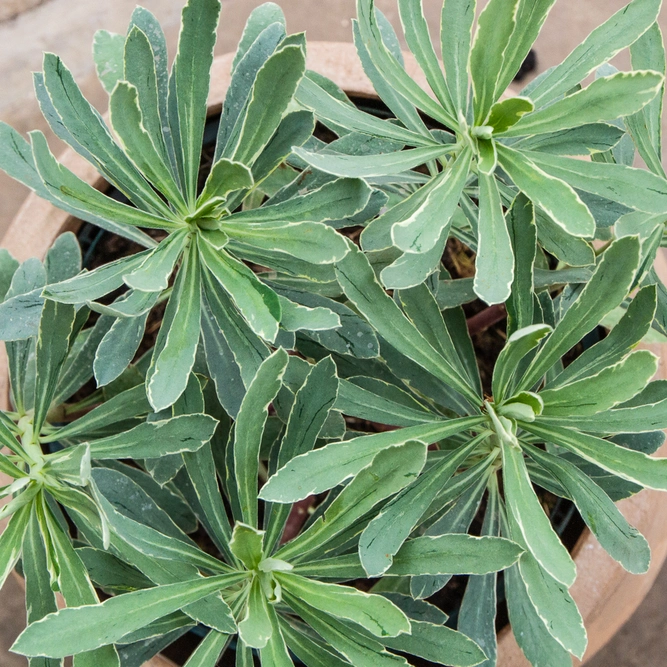
M 618 72 L 601 77 L 583 90 L 524 116 L 501 136 L 557 132 L 631 116 L 658 94 L 662 84 L 663 77 L 657 72 Z

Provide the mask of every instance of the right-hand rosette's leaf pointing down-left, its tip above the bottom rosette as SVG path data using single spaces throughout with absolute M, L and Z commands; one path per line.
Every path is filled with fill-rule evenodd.
M 390 500 L 366 526 L 359 539 L 359 557 L 369 577 L 380 576 L 391 567 L 393 557 L 437 494 L 478 445 L 476 438 L 455 450 Z

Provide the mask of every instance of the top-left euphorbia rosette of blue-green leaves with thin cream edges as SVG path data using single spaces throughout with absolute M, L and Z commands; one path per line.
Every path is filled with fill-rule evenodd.
M 31 133 L 28 144 L 0 126 L 0 167 L 56 206 L 149 248 L 50 285 L 45 294 L 118 318 L 106 340 L 113 358 L 96 368 L 100 385 L 127 367 L 148 313 L 162 295 L 169 299 L 147 375 L 156 410 L 169 407 L 185 389 L 202 327 L 207 349 L 215 351 L 220 342 L 210 332 L 228 329 L 237 313 L 269 343 L 281 323 L 290 332 L 340 323 L 331 311 L 278 296 L 242 260 L 297 276 L 321 273 L 347 251 L 344 240 L 322 223 L 363 211 L 370 195 L 363 181 L 339 179 L 287 201 L 253 205 L 257 193 L 272 192 L 268 181 L 314 127 L 311 113 L 289 111 L 305 70 L 303 35 L 287 37 L 284 18 L 272 6 L 254 15 L 237 52 L 213 165 L 198 190 L 219 10 L 220 3 L 211 0 L 188 4 L 171 74 L 161 28 L 146 10 L 135 12 L 126 38 L 98 37 L 98 69 L 110 93 L 115 138 L 64 63 L 44 56 L 35 84 L 51 128 L 128 203 L 59 165 L 42 133 Z M 156 244 L 141 229 L 160 230 L 162 239 Z M 128 291 L 112 305 L 98 303 L 122 286 Z

